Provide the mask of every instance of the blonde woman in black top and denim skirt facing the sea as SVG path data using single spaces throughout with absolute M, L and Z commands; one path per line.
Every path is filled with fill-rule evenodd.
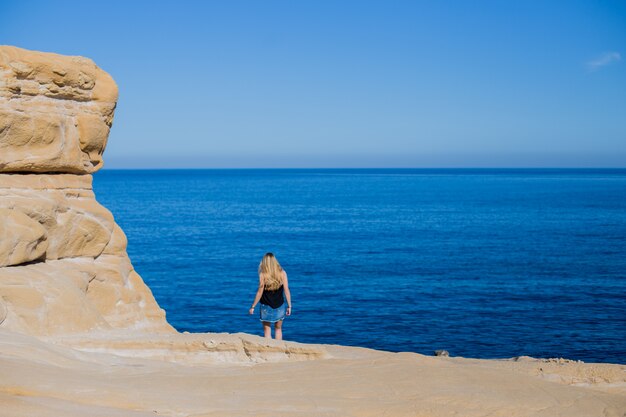
M 285 308 L 285 298 L 287 308 Z M 252 307 L 248 311 L 254 314 L 254 307 L 261 302 L 261 322 L 263 333 L 268 339 L 272 338 L 272 323 L 274 323 L 274 338 L 283 339 L 283 319 L 291 315 L 291 293 L 287 283 L 287 273 L 278 263 L 273 253 L 266 253 L 259 264 L 259 289 L 256 292 Z

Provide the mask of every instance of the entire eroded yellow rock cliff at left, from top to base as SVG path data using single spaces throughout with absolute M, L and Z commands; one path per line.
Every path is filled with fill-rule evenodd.
M 89 59 L 0 46 L 0 327 L 173 331 L 92 190 L 116 100 Z

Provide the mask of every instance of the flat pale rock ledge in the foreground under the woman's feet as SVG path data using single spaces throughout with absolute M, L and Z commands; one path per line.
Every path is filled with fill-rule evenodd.
M 251 360 L 242 349 L 244 337 L 247 349 L 276 356 Z M 292 349 L 317 355 L 290 359 L 286 353 Z M 537 362 L 222 334 L 131 338 L 100 332 L 44 342 L 2 329 L 0 352 L 3 417 L 622 417 L 626 412 L 621 365 L 597 368 L 607 377 L 604 384 L 589 379 L 589 386 L 574 386 L 533 375 L 541 366 Z M 592 367 L 566 363 L 554 371 Z

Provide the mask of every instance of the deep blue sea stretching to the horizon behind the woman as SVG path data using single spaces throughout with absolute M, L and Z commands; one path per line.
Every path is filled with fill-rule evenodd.
M 262 334 L 273 252 L 288 340 L 626 363 L 626 170 L 104 170 L 94 189 L 180 331 Z

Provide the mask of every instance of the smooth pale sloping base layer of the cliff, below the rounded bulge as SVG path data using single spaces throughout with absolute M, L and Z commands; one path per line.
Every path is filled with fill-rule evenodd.
M 171 332 L 165 312 L 125 255 L 0 268 L 1 327 L 33 335 L 123 328 Z

